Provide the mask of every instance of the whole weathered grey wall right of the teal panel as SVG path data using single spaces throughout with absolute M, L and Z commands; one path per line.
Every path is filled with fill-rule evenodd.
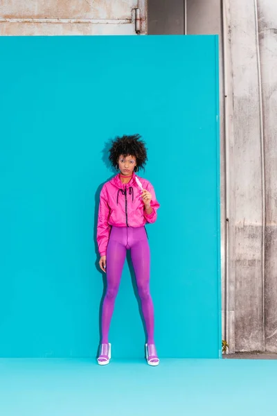
M 222 336 L 230 352 L 277 352 L 277 3 L 187 10 L 188 33 L 222 38 Z

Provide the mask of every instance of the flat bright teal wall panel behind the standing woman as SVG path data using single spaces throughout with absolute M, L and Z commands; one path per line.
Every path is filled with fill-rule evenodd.
M 159 354 L 218 357 L 217 37 L 0 37 L 0 56 L 0 356 L 96 356 L 105 148 L 139 132 L 161 204 L 148 225 Z M 110 340 L 114 357 L 144 354 L 127 264 Z

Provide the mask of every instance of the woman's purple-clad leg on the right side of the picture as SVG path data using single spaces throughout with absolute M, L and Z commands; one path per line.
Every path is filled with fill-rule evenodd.
M 150 248 L 146 234 L 145 239 L 132 244 L 131 257 L 148 334 L 148 344 L 154 344 L 154 307 L 150 295 Z

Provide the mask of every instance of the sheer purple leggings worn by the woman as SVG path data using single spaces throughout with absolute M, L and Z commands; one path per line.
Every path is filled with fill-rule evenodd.
M 148 344 L 154 344 L 154 309 L 149 288 L 150 249 L 144 227 L 111 228 L 107 246 L 107 292 L 102 306 L 102 344 L 109 342 L 109 325 L 127 250 L 131 250 L 136 284 L 148 333 Z

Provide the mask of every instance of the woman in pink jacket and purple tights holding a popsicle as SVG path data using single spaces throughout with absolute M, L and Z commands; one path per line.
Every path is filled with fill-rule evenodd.
M 102 187 L 98 212 L 99 265 L 103 272 L 107 271 L 99 365 L 109 364 L 111 358 L 109 325 L 126 250 L 131 250 L 148 335 L 148 343 L 145 345 L 148 364 L 159 365 L 154 345 L 154 309 L 149 287 L 150 249 L 145 231 L 145 223 L 156 221 L 159 203 L 150 182 L 135 174 L 140 168 L 144 168 L 147 159 L 145 143 L 139 135 L 118 137 L 109 150 L 109 160 L 119 173 Z

